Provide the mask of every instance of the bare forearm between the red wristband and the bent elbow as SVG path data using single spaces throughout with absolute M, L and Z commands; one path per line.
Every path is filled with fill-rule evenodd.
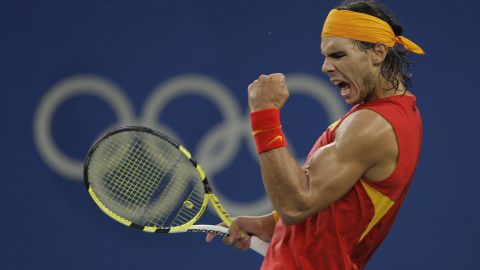
M 287 147 L 260 155 L 260 167 L 265 190 L 273 207 L 286 224 L 304 219 L 308 206 L 308 177 Z

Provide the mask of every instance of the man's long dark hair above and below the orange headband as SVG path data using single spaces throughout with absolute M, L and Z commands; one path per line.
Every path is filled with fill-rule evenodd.
M 350 10 L 375 16 L 387 22 L 393 29 L 396 36 L 402 35 L 402 26 L 386 6 L 375 0 L 347 0 L 342 2 L 336 9 Z M 375 44 L 370 42 L 356 41 L 361 49 L 372 49 Z M 400 83 L 406 89 L 412 86 L 412 75 L 409 71 L 410 62 L 408 57 L 410 53 L 403 48 L 388 48 L 387 56 L 383 61 L 381 74 L 387 80 L 389 88 L 386 90 L 398 90 Z

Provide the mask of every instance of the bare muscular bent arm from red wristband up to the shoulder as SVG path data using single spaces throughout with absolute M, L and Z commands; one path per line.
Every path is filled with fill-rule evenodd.
M 390 124 L 373 111 L 351 114 L 335 141 L 318 149 L 305 170 L 287 147 L 260 155 L 262 178 L 282 221 L 299 223 L 328 207 L 365 176 L 382 180 L 395 169 L 396 138 Z

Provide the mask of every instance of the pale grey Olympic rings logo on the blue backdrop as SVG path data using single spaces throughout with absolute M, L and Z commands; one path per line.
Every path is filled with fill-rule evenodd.
M 345 113 L 343 100 L 323 80 L 307 74 L 288 74 L 290 95 L 303 94 L 323 106 L 330 122 Z M 202 75 L 186 74 L 161 83 L 152 91 L 137 118 L 132 104 L 122 89 L 113 82 L 95 75 L 76 75 L 54 84 L 41 99 L 34 116 L 34 140 L 45 163 L 59 175 L 74 181 L 82 181 L 83 161 L 76 160 L 56 145 L 52 136 L 52 119 L 59 106 L 69 98 L 92 95 L 109 104 L 117 116 L 114 126 L 140 124 L 171 135 L 179 141 L 181 136 L 165 124 L 159 123 L 166 106 L 174 99 L 186 95 L 200 95 L 212 102 L 222 115 L 222 122 L 211 127 L 203 135 L 197 149 L 191 149 L 199 163 L 209 174 L 214 186 L 214 176 L 224 170 L 237 155 L 243 138 L 247 137 L 248 149 L 258 159 L 251 139 L 249 117 L 241 114 L 241 108 L 231 91 L 220 82 Z M 107 129 L 107 128 L 106 128 Z M 222 147 L 217 147 L 221 145 Z M 294 151 L 293 145 L 289 149 Z M 250 203 L 229 200 L 214 187 L 222 204 L 233 214 L 262 214 L 271 210 L 266 196 Z

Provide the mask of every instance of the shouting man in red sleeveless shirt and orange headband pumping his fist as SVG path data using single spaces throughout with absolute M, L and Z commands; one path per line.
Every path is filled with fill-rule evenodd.
M 363 269 L 393 224 L 422 134 L 406 53 L 395 45 L 424 52 L 388 14 L 372 1 L 329 13 L 322 71 L 353 107 L 320 136 L 303 167 L 281 128 L 284 76 L 261 75 L 248 88 L 262 178 L 276 211 L 238 217 L 224 242 L 248 249 L 250 235 L 270 241 L 262 269 Z

